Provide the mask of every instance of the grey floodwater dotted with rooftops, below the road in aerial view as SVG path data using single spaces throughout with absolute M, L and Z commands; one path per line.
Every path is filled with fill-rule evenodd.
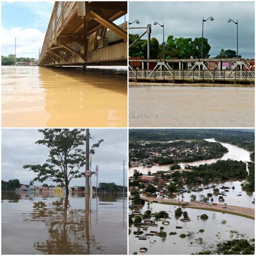
M 133 234 L 137 231 L 137 227 L 130 227 L 129 235 L 129 251 L 130 254 L 139 252 L 139 248 L 146 247 L 146 254 L 192 254 L 201 251 L 214 251 L 218 242 L 234 239 L 237 237 L 236 232 L 243 234 L 245 238 L 254 238 L 254 220 L 240 217 L 237 215 L 223 214 L 220 212 L 211 212 L 206 210 L 197 210 L 186 208 L 191 221 L 184 223 L 174 217 L 174 210 L 177 206 L 152 203 L 150 209 L 152 213 L 166 211 L 169 213 L 170 225 L 162 225 L 163 221 L 156 221 L 158 227 L 149 227 L 146 233 L 150 231 L 160 231 L 160 226 L 164 226 L 164 232 L 167 233 L 166 238 L 157 236 L 148 237 L 147 240 L 138 240 Z M 136 209 L 137 210 L 137 209 Z M 148 210 L 147 204 L 144 205 L 142 212 Z M 207 220 L 201 220 L 199 215 L 206 213 Z M 154 219 L 154 218 L 152 218 Z M 225 223 L 226 221 L 226 223 Z M 176 229 L 176 226 L 183 227 Z M 203 229 L 203 233 L 199 230 Z M 233 232 L 232 232 L 233 231 Z M 169 235 L 170 232 L 177 232 L 176 235 Z M 181 233 L 188 234 L 190 237 L 180 238 Z M 200 241 L 200 238 L 202 240 Z M 240 236 L 238 238 L 241 238 Z

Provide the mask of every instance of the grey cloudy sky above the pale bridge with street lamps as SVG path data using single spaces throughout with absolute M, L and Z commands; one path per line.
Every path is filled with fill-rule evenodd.
M 204 22 L 204 37 L 211 45 L 211 57 L 221 48 L 237 50 L 237 25 L 227 23 L 228 18 L 238 20 L 238 52 L 242 57 L 254 58 L 254 2 L 130 2 L 129 22 L 152 24 L 151 37 L 163 43 L 163 28 L 154 21 L 164 23 L 165 41 L 169 35 L 195 38 L 202 35 L 202 19 L 212 16 L 214 21 Z M 143 29 L 130 30 L 142 34 Z M 146 35 L 143 37 L 146 39 Z

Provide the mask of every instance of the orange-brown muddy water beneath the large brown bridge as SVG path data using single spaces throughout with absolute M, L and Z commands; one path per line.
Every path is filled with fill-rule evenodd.
M 2 66 L 3 127 L 126 125 L 126 70 Z

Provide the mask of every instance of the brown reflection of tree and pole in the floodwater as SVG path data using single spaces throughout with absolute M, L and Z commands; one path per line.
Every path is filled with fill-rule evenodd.
M 68 198 L 60 198 L 47 204 L 39 201 L 33 204 L 33 211 L 27 221 L 44 222 L 49 238 L 35 242 L 33 247 L 44 254 L 90 254 L 91 246 L 103 251 L 91 233 L 90 198 L 85 197 L 85 210 L 72 208 Z

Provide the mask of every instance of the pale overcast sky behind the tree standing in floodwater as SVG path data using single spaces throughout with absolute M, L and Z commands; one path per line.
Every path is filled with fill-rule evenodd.
M 92 155 L 92 170 L 99 165 L 98 183 L 114 182 L 123 185 L 123 160 L 127 164 L 127 130 L 126 129 L 90 129 L 90 144 L 104 139 L 104 142 Z M 37 129 L 2 129 L 2 180 L 19 179 L 22 184 L 36 177 L 36 174 L 22 168 L 25 164 L 44 164 L 48 158 L 48 148 L 35 144 L 43 134 Z M 84 169 L 84 167 L 83 167 Z M 85 171 L 81 169 L 82 171 Z M 127 166 L 125 166 L 125 185 Z M 50 182 L 46 182 L 49 185 Z M 84 186 L 85 179 L 73 179 L 71 186 Z M 36 182 L 40 185 L 41 183 Z M 42 185 L 42 184 L 41 184 Z M 92 178 L 96 186 L 96 178 Z

